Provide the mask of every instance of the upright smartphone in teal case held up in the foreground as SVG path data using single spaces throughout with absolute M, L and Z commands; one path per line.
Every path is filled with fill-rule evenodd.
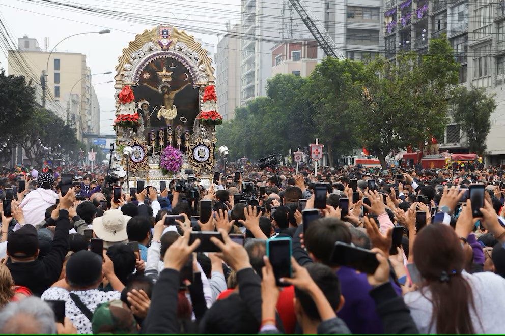
M 289 286 L 280 282 L 280 278 L 292 278 L 291 238 L 273 238 L 267 240 L 267 257 L 272 264 L 273 275 L 277 286 Z

